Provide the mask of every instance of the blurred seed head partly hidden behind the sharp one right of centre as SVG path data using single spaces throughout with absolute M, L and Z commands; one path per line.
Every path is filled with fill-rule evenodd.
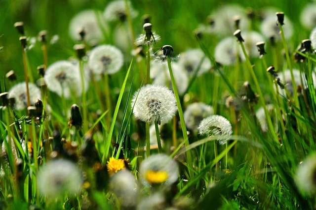
M 197 131 L 197 127 L 201 120 L 213 115 L 213 107 L 202 102 L 190 104 L 183 113 L 187 128 Z

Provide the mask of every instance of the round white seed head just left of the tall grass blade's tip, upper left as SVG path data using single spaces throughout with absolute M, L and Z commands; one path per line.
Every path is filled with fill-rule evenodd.
M 114 74 L 123 66 L 123 54 L 112 45 L 100 45 L 91 50 L 88 65 L 97 76 Z

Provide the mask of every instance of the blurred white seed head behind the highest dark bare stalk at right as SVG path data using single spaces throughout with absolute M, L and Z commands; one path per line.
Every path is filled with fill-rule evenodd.
M 292 23 L 285 17 L 284 20 L 285 25 L 283 26 L 284 37 L 290 38 L 293 34 L 293 26 Z M 276 14 L 267 16 L 261 23 L 260 26 L 261 33 L 267 37 L 274 37 L 276 40 L 281 39 L 280 35 L 280 27 L 277 25 L 277 17 Z

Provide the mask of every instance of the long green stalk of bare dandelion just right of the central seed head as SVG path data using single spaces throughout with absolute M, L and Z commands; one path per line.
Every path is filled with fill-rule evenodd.
M 173 73 L 172 73 L 171 60 L 170 60 L 169 56 L 167 56 L 167 63 L 168 63 L 168 68 L 169 68 L 169 73 L 170 73 L 170 78 L 171 78 L 171 83 L 172 83 L 172 89 L 173 89 L 173 92 L 174 92 L 174 95 L 175 95 L 176 101 L 177 101 L 177 107 L 178 107 L 178 112 L 179 112 L 179 117 L 180 117 L 180 122 L 181 122 L 181 127 L 182 127 L 184 144 L 185 144 L 185 147 L 187 148 L 190 145 L 189 137 L 188 137 L 188 133 L 187 133 L 186 123 L 185 123 L 184 117 L 183 117 L 183 111 L 182 111 L 182 107 L 181 107 L 178 89 L 177 89 L 177 86 L 176 86 L 176 83 L 175 83 L 175 80 L 173 77 Z M 190 150 L 187 150 L 187 159 L 188 159 L 189 166 L 193 167 L 192 155 L 191 155 Z M 189 170 L 189 175 L 190 175 L 191 179 L 194 179 L 194 173 L 191 170 Z

